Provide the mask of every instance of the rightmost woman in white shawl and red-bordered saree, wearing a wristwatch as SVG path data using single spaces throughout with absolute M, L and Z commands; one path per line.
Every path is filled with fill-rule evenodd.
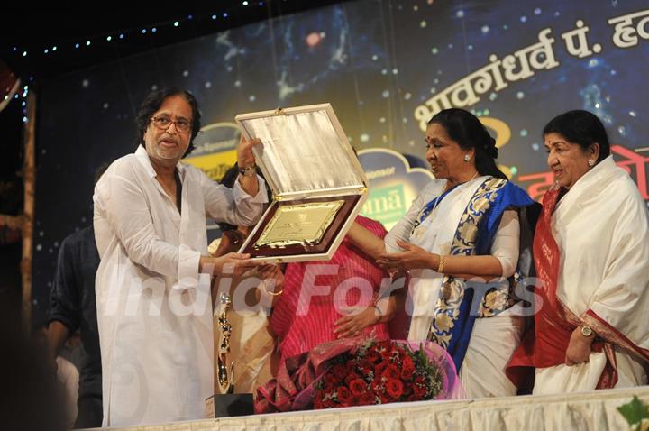
M 647 383 L 649 215 L 610 155 L 597 116 L 570 111 L 544 128 L 555 185 L 536 226 L 543 306 L 507 375 L 535 394 Z

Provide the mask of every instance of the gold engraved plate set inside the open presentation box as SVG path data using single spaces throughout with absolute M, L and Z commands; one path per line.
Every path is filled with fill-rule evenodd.
M 343 204 L 334 200 L 279 206 L 254 247 L 318 244 Z

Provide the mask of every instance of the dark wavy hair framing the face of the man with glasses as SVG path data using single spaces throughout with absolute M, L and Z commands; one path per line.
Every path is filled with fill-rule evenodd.
M 149 127 L 151 115 L 153 115 L 153 113 L 160 109 L 160 106 L 164 103 L 164 101 L 171 96 L 185 97 L 185 100 L 187 100 L 187 103 L 191 106 L 192 109 L 192 131 L 191 137 L 189 138 L 189 146 L 187 147 L 185 154 L 183 154 L 183 158 L 185 158 L 191 151 L 194 151 L 194 138 L 197 137 L 197 134 L 200 131 L 201 127 L 200 111 L 198 110 L 198 102 L 196 97 L 194 97 L 194 95 L 189 93 L 187 90 L 183 90 L 182 88 L 178 87 L 165 87 L 153 90 L 151 91 L 149 96 L 147 96 L 142 101 L 138 114 L 135 117 L 135 125 L 137 127 L 135 148 L 137 148 L 138 145 L 144 144 L 144 133 L 146 133 L 146 129 L 147 127 Z

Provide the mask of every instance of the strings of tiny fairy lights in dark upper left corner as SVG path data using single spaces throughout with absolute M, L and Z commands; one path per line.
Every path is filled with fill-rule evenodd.
M 243 0 L 239 3 L 239 5 L 243 7 L 263 7 L 267 6 L 267 3 L 270 0 Z M 284 0 L 286 1 L 286 0 Z M 146 25 L 146 26 L 140 26 L 140 27 L 133 27 L 131 29 L 126 29 L 126 30 L 119 30 L 119 31 L 114 31 L 114 32 L 105 32 L 101 34 L 95 34 L 93 36 L 87 36 L 82 39 L 79 39 L 78 41 L 71 41 L 71 42 L 65 42 L 65 43 L 50 43 L 45 46 L 40 46 L 40 47 L 27 47 L 27 46 L 21 46 L 20 44 L 14 44 L 10 48 L 10 55 L 18 58 L 27 58 L 28 56 L 35 56 L 35 55 L 41 55 L 45 57 L 53 57 L 56 56 L 58 53 L 62 51 L 79 51 L 82 52 L 83 50 L 88 50 L 92 49 L 93 47 L 96 46 L 102 46 L 105 47 L 106 44 L 110 43 L 119 43 L 122 41 L 128 41 L 129 39 L 133 39 L 135 37 L 154 37 L 155 35 L 159 34 L 161 30 L 173 30 L 173 29 L 182 29 L 184 26 L 186 26 L 189 23 L 197 22 L 197 21 L 215 21 L 215 22 L 223 22 L 224 20 L 227 20 L 233 11 L 230 10 L 228 12 L 227 10 L 224 11 L 223 9 L 219 11 L 218 13 L 213 13 L 213 14 L 187 14 L 184 18 L 178 18 L 174 20 L 168 20 L 162 23 L 156 23 L 156 24 L 151 24 L 151 25 Z M 34 81 L 34 77 L 32 75 L 27 78 L 28 83 L 23 85 L 22 91 L 16 91 L 14 94 L 14 99 L 20 100 L 23 99 L 21 102 L 22 105 L 22 113 L 23 113 L 23 123 L 27 123 L 29 121 L 27 117 L 27 96 L 29 95 L 30 91 L 30 84 Z M 20 90 L 20 88 L 19 88 Z M 8 100 L 9 97 L 11 97 L 10 94 L 5 95 L 5 100 Z

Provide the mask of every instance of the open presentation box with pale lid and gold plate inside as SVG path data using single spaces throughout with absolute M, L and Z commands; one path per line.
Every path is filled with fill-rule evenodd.
M 237 115 L 273 199 L 239 252 L 270 262 L 329 260 L 368 181 L 329 104 Z

